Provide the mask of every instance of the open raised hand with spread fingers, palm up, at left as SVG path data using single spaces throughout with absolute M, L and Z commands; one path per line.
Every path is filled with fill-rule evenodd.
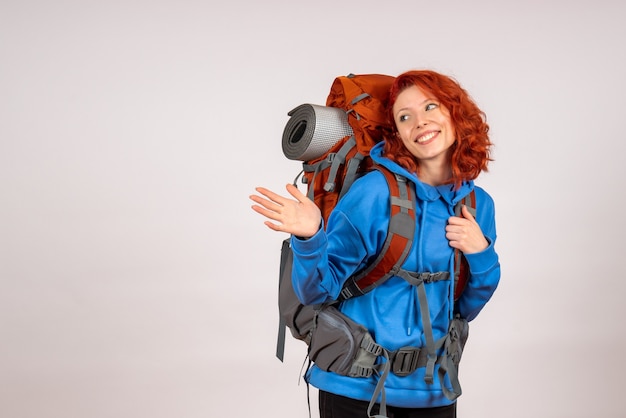
M 262 196 L 250 196 L 256 203 L 252 209 L 268 218 L 265 225 L 274 231 L 287 232 L 301 238 L 312 237 L 322 222 L 319 208 L 293 184 L 287 184 L 286 189 L 294 199 L 257 187 L 255 190 Z

